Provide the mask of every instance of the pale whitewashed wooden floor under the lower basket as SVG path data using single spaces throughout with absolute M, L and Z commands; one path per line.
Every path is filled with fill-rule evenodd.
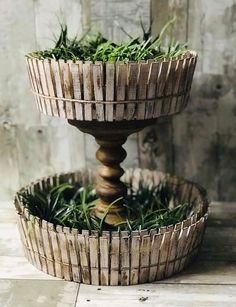
M 0 306 L 236 306 L 236 203 L 214 203 L 198 260 L 167 280 L 129 287 L 79 285 L 50 277 L 24 258 L 14 208 L 0 203 Z

